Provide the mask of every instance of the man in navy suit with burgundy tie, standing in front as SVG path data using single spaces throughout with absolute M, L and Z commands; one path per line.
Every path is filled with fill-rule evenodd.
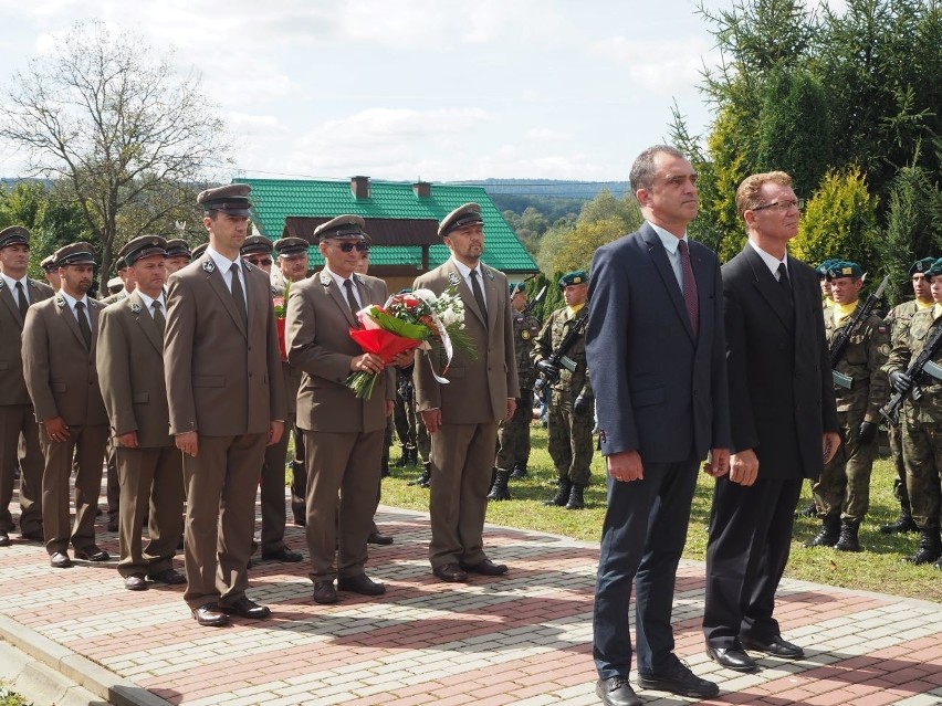
M 608 706 L 641 703 L 628 684 L 632 584 L 638 684 L 719 692 L 673 654 L 670 615 L 698 466 L 710 451 L 706 470 L 724 473 L 730 443 L 720 266 L 687 239 L 697 173 L 659 145 L 635 160 L 630 179 L 646 223 L 596 252 L 586 331 L 608 468 L 593 644 L 596 694 Z

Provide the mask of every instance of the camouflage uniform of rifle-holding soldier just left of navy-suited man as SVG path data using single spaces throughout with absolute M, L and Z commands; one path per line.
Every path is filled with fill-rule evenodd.
M 588 316 L 588 306 L 583 306 L 575 317 L 569 318 L 567 307 L 553 312 L 543 325 L 543 330 L 533 343 L 533 362 L 548 358 L 559 346 L 574 322 Z M 586 368 L 585 334 L 579 336 L 566 351 L 566 357 L 576 362 L 576 371 L 559 368 L 559 380 L 551 388 L 547 405 L 550 432 L 550 456 L 556 466 L 556 477 L 573 485 L 586 486 L 589 482 L 595 425 L 595 397 Z M 573 410 L 576 398 L 582 396 L 589 402 L 588 411 L 577 414 Z

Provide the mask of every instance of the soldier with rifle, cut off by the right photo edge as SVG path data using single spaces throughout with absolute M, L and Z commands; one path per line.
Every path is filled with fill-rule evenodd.
M 889 375 L 893 389 L 907 396 L 900 414 L 903 463 L 912 519 L 919 527 L 920 538 L 915 554 L 906 560 L 912 563 L 935 561 L 936 568 L 942 568 L 936 561 L 942 555 L 942 540 L 939 536 L 942 380 L 925 372 L 918 380 L 913 380 L 906 373 L 909 363 L 922 351 L 932 331 L 942 325 L 942 259 L 932 264 L 925 276 L 932 283 L 932 299 L 935 304 L 913 314 L 909 328 L 899 335 L 894 334 L 892 351 L 883 369 Z M 936 352 L 932 361 L 942 363 L 942 352 Z M 915 384 L 920 391 L 918 400 L 909 394 Z

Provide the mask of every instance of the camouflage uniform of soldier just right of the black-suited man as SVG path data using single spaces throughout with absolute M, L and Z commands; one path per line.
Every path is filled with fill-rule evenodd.
M 862 305 L 861 305 L 862 306 Z M 825 309 L 825 331 L 828 344 L 850 323 L 852 315 L 840 325 L 834 322 L 834 309 Z M 844 443 L 814 484 L 815 502 L 821 517 L 836 517 L 859 525 L 870 506 L 870 473 L 877 459 L 878 444 L 859 444 L 858 430 L 862 422 L 880 423 L 880 408 L 889 399 L 889 381 L 882 370 L 890 355 L 890 338 L 886 323 L 871 314 L 851 336 L 835 371 L 852 379 L 848 390 L 834 386 L 837 418 Z

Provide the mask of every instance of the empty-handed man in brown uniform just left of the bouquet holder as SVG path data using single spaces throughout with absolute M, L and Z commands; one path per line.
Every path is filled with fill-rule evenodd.
M 209 246 L 174 273 L 167 296 L 164 370 L 187 488 L 184 600 L 200 625 L 271 614 L 245 596 L 247 568 L 265 445 L 279 442 L 287 412 L 271 285 L 239 255 L 250 191 L 197 197 Z

